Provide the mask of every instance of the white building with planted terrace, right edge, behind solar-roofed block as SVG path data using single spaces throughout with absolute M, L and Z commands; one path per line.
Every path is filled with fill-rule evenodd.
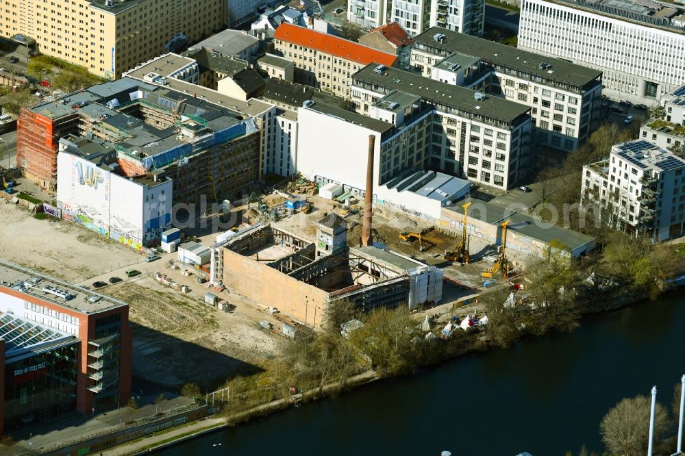
M 685 86 L 662 99 L 663 118 L 650 118 L 640 127 L 640 138 L 679 155 L 685 144 Z

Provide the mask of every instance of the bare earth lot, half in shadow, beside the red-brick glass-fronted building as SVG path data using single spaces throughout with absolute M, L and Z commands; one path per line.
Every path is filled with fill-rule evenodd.
M 281 353 L 286 340 L 262 329 L 259 320 L 278 322 L 242 296 L 214 292 L 231 304 L 231 312 L 203 302 L 208 289 L 168 264 L 157 270 L 190 287 L 188 294 L 153 279 L 153 273 L 103 290 L 130 305 L 134 329 L 134 377 L 166 387 L 197 383 L 212 390 L 236 375 L 262 370 Z

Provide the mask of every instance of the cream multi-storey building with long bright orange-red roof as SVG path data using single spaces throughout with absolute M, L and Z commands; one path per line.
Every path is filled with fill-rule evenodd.
M 282 23 L 274 35 L 274 53 L 295 64 L 295 82 L 349 97 L 351 75 L 377 62 L 392 66 L 397 55 L 319 31 Z

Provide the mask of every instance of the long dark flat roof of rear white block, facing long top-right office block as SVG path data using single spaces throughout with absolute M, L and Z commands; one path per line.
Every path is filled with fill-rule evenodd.
M 436 36 L 443 36 L 436 40 Z M 454 52 L 472 55 L 488 64 L 495 64 L 512 68 L 521 73 L 540 77 L 543 80 L 555 81 L 569 86 L 584 87 L 588 84 L 595 86 L 599 84 L 597 78 L 601 77 L 602 72 L 586 66 L 566 62 L 565 60 L 551 58 L 536 54 L 534 52 L 523 51 L 508 45 L 484 40 L 477 36 L 471 36 L 443 29 L 441 27 L 431 27 L 423 34 L 414 38 L 414 47 L 417 45 L 430 47 L 442 51 L 443 54 Z M 540 68 L 540 64 L 550 65 L 547 68 Z M 551 73 L 550 73 L 551 71 Z M 520 77 L 525 77 L 520 75 Z

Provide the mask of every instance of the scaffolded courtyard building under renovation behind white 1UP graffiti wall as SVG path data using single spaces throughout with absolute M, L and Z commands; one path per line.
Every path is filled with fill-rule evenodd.
M 120 175 L 171 177 L 177 202 L 219 201 L 260 177 L 259 118 L 132 78 L 22 110 L 17 164 L 49 191 L 68 134 L 114 144 Z

